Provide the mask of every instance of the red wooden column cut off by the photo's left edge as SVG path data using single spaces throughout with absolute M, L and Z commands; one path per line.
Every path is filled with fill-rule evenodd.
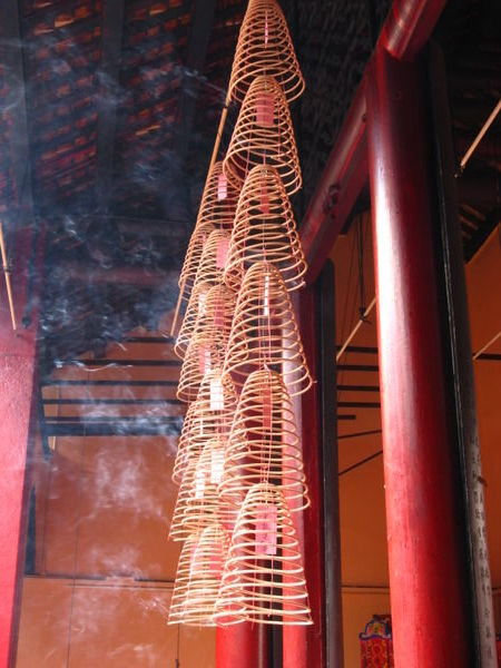
M 18 577 L 24 561 L 24 478 L 31 428 L 37 324 L 36 317 L 29 327 L 21 324 L 30 250 L 30 235 L 18 235 L 12 276 L 17 332 L 12 330 L 4 278 L 0 275 L 0 668 L 8 668 L 13 661 L 20 595 Z

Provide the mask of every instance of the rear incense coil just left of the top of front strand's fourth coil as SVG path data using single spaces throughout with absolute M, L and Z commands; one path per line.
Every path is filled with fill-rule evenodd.
M 224 284 L 210 286 L 199 283 L 188 302 L 185 318 L 177 336 L 175 351 L 184 357 L 195 333 L 215 327 L 224 341 L 228 340 L 235 310 L 236 293 Z

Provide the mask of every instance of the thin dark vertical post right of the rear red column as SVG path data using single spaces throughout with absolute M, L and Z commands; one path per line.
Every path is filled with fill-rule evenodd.
M 318 383 L 322 433 L 322 499 L 324 515 L 326 668 L 342 668 L 343 607 L 341 601 L 341 529 L 337 458 L 335 277 L 327 261 L 318 278 Z M 338 416 L 340 419 L 341 416 Z

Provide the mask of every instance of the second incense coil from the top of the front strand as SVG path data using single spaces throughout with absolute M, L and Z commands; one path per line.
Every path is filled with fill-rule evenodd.
M 224 160 L 228 180 L 240 187 L 256 165 L 275 167 L 288 195 L 302 186 L 287 100 L 273 77 L 257 77 L 242 105 Z

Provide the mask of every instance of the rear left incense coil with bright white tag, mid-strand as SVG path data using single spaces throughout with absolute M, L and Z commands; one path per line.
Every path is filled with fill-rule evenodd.
M 180 484 L 189 459 L 198 456 L 210 439 L 227 439 L 236 405 L 235 387 L 229 379 L 223 379 L 220 367 L 207 372 L 186 413 L 174 463 L 176 484 Z

